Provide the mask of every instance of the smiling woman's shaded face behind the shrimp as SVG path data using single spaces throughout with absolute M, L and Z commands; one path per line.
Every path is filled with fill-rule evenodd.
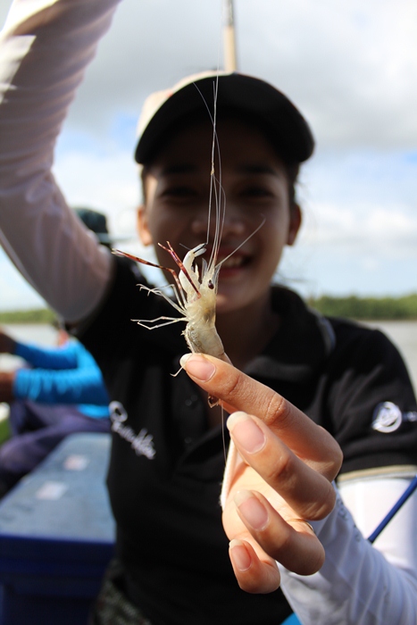
M 216 158 L 214 171 L 221 178 L 225 202 L 217 262 L 238 248 L 221 266 L 217 297 L 221 314 L 269 292 L 282 250 L 294 243 L 301 216 L 298 206 L 289 205 L 285 166 L 258 129 L 229 119 L 218 124 L 217 135 L 221 163 Z M 209 223 L 212 142 L 210 125 L 196 121 L 171 138 L 146 170 L 139 236 L 145 245 L 154 244 L 162 265 L 175 270 L 171 256 L 157 243 L 169 241 L 183 258 L 206 241 L 209 228 L 208 252 L 213 244 L 219 198 L 213 196 Z

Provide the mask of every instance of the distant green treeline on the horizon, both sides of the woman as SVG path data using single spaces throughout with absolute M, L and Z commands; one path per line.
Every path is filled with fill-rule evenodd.
M 307 303 L 328 317 L 360 320 L 417 320 L 417 293 L 403 297 L 310 297 Z M 48 308 L 0 312 L 1 323 L 53 323 L 54 312 Z

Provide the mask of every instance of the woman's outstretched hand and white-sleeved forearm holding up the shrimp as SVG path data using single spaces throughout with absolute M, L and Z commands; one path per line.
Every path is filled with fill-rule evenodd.
M 182 363 L 239 411 L 229 419 L 239 456 L 223 512 L 239 585 L 264 593 L 281 583 L 305 625 L 416 622 L 415 557 L 402 567 L 396 546 L 381 554 L 356 529 L 331 485 L 341 453 L 329 433 L 226 362 L 189 354 Z M 415 555 L 415 532 L 397 537 L 407 539 Z

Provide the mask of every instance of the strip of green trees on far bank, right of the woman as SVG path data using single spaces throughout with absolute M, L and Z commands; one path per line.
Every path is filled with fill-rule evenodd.
M 387 321 L 417 319 L 417 294 L 403 297 L 331 297 L 321 296 L 308 301 L 328 317 Z

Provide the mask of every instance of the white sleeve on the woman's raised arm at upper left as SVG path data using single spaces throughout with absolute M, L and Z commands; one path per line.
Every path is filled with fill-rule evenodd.
M 0 33 L 0 243 L 67 321 L 92 312 L 113 259 L 51 167 L 75 89 L 119 0 L 15 0 Z

